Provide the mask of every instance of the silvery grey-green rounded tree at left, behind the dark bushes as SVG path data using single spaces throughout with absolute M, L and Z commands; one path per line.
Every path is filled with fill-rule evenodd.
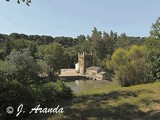
M 8 56 L 8 59 L 16 67 L 15 79 L 24 83 L 28 83 L 29 80 L 33 80 L 31 82 L 37 80 L 40 66 L 30 55 L 28 49 L 23 49 L 22 51 L 13 50 Z

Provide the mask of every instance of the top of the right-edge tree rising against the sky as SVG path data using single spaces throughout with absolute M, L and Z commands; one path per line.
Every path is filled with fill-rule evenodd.
M 152 24 L 152 29 L 150 31 L 151 37 L 155 39 L 160 39 L 160 17 Z

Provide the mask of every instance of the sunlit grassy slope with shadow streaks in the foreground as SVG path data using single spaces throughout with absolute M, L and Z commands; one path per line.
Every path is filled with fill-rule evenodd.
M 160 82 L 131 87 L 110 83 L 75 94 L 63 114 L 48 120 L 159 120 Z

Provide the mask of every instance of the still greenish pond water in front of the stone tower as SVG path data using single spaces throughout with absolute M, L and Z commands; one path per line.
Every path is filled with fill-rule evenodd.
M 65 82 L 67 86 L 70 86 L 74 93 L 85 92 L 91 88 L 101 88 L 108 84 L 106 80 L 75 80 L 71 82 Z

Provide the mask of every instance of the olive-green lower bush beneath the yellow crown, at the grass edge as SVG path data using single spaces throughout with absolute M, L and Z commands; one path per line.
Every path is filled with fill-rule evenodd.
M 131 86 L 151 82 L 152 77 L 149 77 L 148 74 L 149 66 L 141 59 L 121 66 L 120 69 L 115 72 L 115 77 L 121 86 Z

